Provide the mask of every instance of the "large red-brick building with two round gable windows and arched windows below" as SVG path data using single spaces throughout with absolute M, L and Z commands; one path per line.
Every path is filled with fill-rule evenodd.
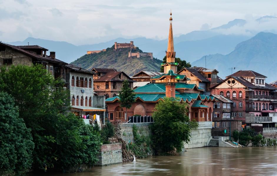
M 240 70 L 226 77 L 211 87 L 211 93 L 231 99 L 234 102 L 231 117 L 247 125 L 250 121 L 246 121 L 246 116 L 269 116 L 268 112 L 277 108 L 276 87 L 266 83 L 266 76 L 251 70 Z

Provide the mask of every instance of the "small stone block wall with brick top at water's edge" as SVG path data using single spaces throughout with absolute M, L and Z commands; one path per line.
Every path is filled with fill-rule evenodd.
M 114 163 L 122 163 L 121 143 L 102 145 L 98 157 L 99 161 L 96 165 L 103 166 Z

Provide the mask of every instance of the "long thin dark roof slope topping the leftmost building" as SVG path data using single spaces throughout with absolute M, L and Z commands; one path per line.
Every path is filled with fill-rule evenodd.
M 10 44 L 6 44 L 6 43 L 2 43 L 2 42 L 0 42 L 0 45 L 4 45 L 4 46 L 6 46 L 6 47 L 12 48 L 12 49 L 14 49 L 14 50 L 16 50 L 16 51 L 19 51 L 19 52 L 21 52 L 21 53 L 24 53 L 24 54 L 26 54 L 26 55 L 29 55 L 29 56 L 31 56 L 31 57 L 33 57 L 33 58 L 38 59 L 38 60 L 42 60 L 42 61 L 46 61 L 46 62 L 59 63 L 59 64 L 62 64 L 62 65 L 67 64 L 67 63 L 64 62 L 64 61 L 61 61 L 61 60 L 58 60 L 58 59 L 52 59 L 52 58 L 49 57 L 49 56 L 42 57 L 41 55 L 37 55 L 37 54 L 31 53 L 31 52 L 29 52 L 29 51 L 27 51 L 27 50 L 24 50 L 24 49 L 22 49 L 22 48 L 19 48 L 18 46 L 15 46 L 15 45 L 10 45 Z

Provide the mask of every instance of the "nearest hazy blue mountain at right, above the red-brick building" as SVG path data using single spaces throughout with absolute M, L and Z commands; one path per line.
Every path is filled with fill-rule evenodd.
M 253 70 L 267 76 L 266 82 L 277 79 L 277 35 L 260 32 L 254 37 L 239 43 L 228 55 L 214 54 L 206 57 L 207 68 L 215 68 L 224 78 L 231 74 L 229 68 Z M 205 56 L 192 63 L 205 67 Z

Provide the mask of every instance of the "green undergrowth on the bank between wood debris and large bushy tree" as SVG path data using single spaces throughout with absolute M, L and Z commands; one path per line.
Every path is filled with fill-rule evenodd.
M 149 136 L 139 135 L 135 124 L 132 127 L 134 142 L 130 142 L 129 149 L 132 150 L 136 158 L 145 158 L 151 152 L 151 140 Z

